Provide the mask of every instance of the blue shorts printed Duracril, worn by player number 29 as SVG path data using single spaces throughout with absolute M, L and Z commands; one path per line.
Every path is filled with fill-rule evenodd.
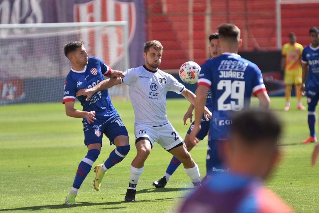
M 223 146 L 225 141 L 221 140 L 208 140 L 207 158 L 206 158 L 206 173 L 213 175 L 216 172 L 228 172 L 229 169 L 225 168 L 223 164 Z

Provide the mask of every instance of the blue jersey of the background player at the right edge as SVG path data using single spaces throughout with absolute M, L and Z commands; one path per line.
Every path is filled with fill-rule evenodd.
M 312 48 L 311 44 L 302 51 L 303 64 L 308 64 L 308 86 L 319 90 L 319 47 Z M 317 92 L 315 91 L 315 92 Z

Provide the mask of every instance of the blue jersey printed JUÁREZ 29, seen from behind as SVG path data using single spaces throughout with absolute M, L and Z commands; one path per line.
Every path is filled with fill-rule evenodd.
M 266 91 L 257 65 L 234 53 L 207 60 L 201 67 L 199 85 L 211 89 L 211 140 L 227 139 L 231 113 L 250 107 L 252 92 Z

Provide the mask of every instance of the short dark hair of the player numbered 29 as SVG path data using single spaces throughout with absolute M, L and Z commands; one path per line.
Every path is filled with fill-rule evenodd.
M 239 42 L 240 29 L 231 23 L 224 23 L 217 27 L 219 39 L 228 39 Z

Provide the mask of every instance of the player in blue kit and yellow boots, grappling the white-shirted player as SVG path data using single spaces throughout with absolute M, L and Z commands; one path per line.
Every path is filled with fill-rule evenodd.
M 83 118 L 84 143 L 88 149 L 86 156 L 78 165 L 70 193 L 65 198 L 65 204 L 72 205 L 75 203 L 78 189 L 100 154 L 103 134 L 110 140 L 110 145 L 114 144 L 116 148 L 111 151 L 104 164 L 94 168 L 96 173 L 94 188 L 97 191 L 100 189 L 105 172 L 125 158 L 130 150 L 130 144 L 127 130 L 111 103 L 108 90 L 94 93 L 88 101 L 85 100 L 85 96 L 77 97 L 83 110 L 74 108 L 78 90 L 92 88 L 103 81 L 102 75 L 111 78 L 124 77 L 123 72 L 111 70 L 99 58 L 88 58 L 83 41 L 71 41 L 65 44 L 64 54 L 72 65 L 64 85 L 65 113 L 70 117 Z

